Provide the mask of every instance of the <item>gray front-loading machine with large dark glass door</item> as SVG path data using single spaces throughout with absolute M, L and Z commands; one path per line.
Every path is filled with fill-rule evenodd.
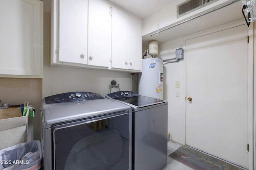
M 42 100 L 44 170 L 131 170 L 131 107 L 91 92 Z

